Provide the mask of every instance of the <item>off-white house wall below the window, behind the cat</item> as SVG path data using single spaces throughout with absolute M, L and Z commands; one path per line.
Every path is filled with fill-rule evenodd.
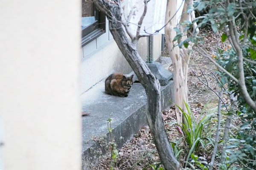
M 137 45 L 143 59 L 147 56 L 147 38 L 140 38 Z M 154 36 L 154 59 L 161 54 L 161 35 Z M 106 33 L 81 48 L 81 93 L 87 91 L 113 72 L 128 74 L 132 71 L 108 29 Z

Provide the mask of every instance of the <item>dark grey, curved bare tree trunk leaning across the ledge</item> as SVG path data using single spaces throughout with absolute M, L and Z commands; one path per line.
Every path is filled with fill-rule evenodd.
M 94 3 L 107 15 L 109 29 L 116 44 L 145 88 L 148 126 L 164 167 L 166 170 L 179 170 L 180 164 L 172 152 L 161 116 L 160 84 L 138 54 L 136 43 L 130 42 L 126 37 L 122 28 L 120 4 L 113 0 L 94 0 Z

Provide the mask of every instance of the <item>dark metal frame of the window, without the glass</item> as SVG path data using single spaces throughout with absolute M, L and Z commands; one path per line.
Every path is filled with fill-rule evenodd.
M 106 16 L 93 4 L 93 12 L 96 21 L 82 30 L 81 47 L 95 40 L 106 32 Z

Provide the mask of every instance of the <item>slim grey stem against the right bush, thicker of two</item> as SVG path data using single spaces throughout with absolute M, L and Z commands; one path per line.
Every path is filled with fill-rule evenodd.
M 235 114 L 236 111 L 236 105 L 237 105 L 237 99 L 236 97 L 234 97 L 234 94 L 230 94 L 230 103 L 231 103 L 231 107 L 230 107 L 230 112 L 231 114 L 227 116 L 226 119 L 226 123 L 225 123 L 225 127 L 224 127 L 224 136 L 223 136 L 223 147 L 221 150 L 221 161 L 220 163 L 224 163 L 225 162 L 225 158 L 226 158 L 226 148 L 227 148 L 227 142 L 228 142 L 228 138 L 229 138 L 229 130 L 230 130 L 230 124 L 233 118 L 233 114 Z

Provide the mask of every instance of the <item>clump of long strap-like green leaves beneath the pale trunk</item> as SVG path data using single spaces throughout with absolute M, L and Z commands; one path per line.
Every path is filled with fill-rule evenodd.
M 214 146 L 214 139 L 211 137 L 212 127 L 209 128 L 212 116 L 214 115 L 212 112 L 214 110 L 209 111 L 206 116 L 196 121 L 186 102 L 185 105 L 188 113 L 185 113 L 177 106 L 183 113 L 183 123 L 181 123 L 181 125 L 176 124 L 176 129 L 180 133 L 181 138 L 172 142 L 172 148 L 178 160 L 180 160 L 181 153 L 185 153 L 183 156 L 184 159 L 186 159 L 185 166 L 187 166 L 192 154 L 204 155 L 204 150 L 207 145 L 211 144 Z

